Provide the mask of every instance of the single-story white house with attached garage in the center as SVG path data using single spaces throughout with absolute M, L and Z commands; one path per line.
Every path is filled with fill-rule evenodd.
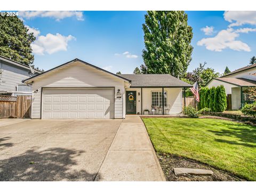
M 33 86 L 31 118 L 43 119 L 179 114 L 182 90 L 192 86 L 167 74 L 116 75 L 79 59 L 23 82 Z

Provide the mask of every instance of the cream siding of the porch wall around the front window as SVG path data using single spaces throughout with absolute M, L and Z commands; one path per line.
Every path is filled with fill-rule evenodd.
M 127 91 L 137 91 L 137 113 L 141 113 L 141 89 L 129 88 Z M 162 91 L 162 88 L 143 88 L 142 89 L 142 113 L 148 109 L 151 113 L 151 91 Z M 182 88 L 164 88 L 167 92 L 167 104 L 171 106 L 170 115 L 177 115 L 182 111 Z M 140 92 L 140 96 L 138 93 Z M 139 101 L 140 100 L 140 101 Z

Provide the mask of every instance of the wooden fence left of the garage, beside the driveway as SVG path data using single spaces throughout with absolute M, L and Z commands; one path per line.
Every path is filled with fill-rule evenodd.
M 0 118 L 30 118 L 31 96 L 18 97 L 0 95 Z

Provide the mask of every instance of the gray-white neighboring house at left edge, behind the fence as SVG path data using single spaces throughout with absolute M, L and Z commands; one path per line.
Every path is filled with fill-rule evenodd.
M 0 55 L 0 94 L 31 95 L 32 87 L 22 83 L 22 80 L 39 73 L 41 72 Z

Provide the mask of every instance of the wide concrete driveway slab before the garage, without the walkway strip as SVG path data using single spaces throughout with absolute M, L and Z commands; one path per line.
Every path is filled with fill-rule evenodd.
M 121 123 L 0 119 L 0 180 L 93 181 Z

